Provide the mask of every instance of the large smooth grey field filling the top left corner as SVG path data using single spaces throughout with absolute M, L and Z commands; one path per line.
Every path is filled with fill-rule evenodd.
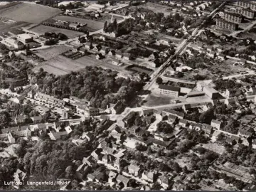
M 42 21 L 61 13 L 60 9 L 41 6 L 38 4 L 19 3 L 7 4 L 1 7 L 0 16 L 14 19 L 15 21 L 25 21 L 28 23 L 41 23 Z

